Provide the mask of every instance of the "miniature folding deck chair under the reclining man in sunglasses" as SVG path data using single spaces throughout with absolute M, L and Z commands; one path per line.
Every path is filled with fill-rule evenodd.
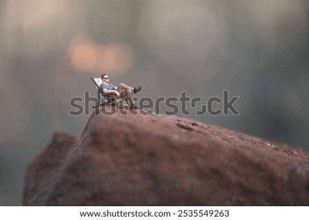
M 107 100 L 104 97 L 104 92 L 100 87 L 100 85 L 102 84 L 102 79 L 101 78 L 93 78 L 91 76 L 91 80 L 95 84 L 95 87 L 97 88 L 97 92 L 98 92 L 98 105 L 95 105 L 93 108 L 96 108 L 96 107 L 98 107 L 100 105 L 104 105 L 104 104 L 116 104 L 117 107 L 120 107 L 124 104 L 124 101 L 126 101 L 126 104 L 128 104 L 128 106 L 130 106 L 128 94 L 124 94 L 124 91 L 122 91 L 120 93 L 120 97 L 118 97 L 118 98 L 114 97 L 111 100 Z

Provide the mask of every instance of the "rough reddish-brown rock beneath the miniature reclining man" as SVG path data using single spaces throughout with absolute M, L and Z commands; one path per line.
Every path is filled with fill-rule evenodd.
M 100 107 L 79 141 L 58 133 L 32 162 L 23 204 L 308 206 L 309 155 L 185 118 Z

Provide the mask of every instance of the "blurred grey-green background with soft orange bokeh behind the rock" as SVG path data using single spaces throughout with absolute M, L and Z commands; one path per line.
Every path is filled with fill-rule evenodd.
M 90 76 L 104 72 L 153 100 L 229 90 L 240 115 L 187 117 L 308 152 L 308 12 L 306 0 L 0 0 L 0 205 L 21 205 L 55 131 L 82 133 L 88 115 L 69 102 L 96 97 Z

